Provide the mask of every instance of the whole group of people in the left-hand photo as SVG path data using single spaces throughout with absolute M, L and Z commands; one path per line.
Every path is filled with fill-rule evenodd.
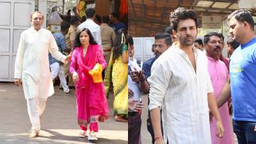
M 31 28 L 20 36 L 15 84 L 20 86 L 22 81 L 32 125 L 31 138 L 39 135 L 41 116 L 47 98 L 54 94 L 53 80 L 57 76 L 64 93 L 76 91 L 79 137 L 87 136 L 90 125 L 88 140 L 97 141 L 98 122 L 111 115 L 107 102 L 109 88 L 115 97 L 115 120 L 127 121 L 127 26 L 120 22 L 116 12 L 100 17 L 93 8 L 85 11 L 86 20 L 77 13 L 70 15 L 70 11 L 60 15 L 62 22 L 56 33 L 42 28 L 44 15 L 34 12 Z

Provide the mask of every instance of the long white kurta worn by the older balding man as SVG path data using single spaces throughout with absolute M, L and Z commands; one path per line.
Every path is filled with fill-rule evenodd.
M 50 97 L 54 93 L 48 52 L 60 61 L 66 56 L 58 51 L 58 46 L 47 29 L 36 31 L 33 27 L 20 35 L 20 42 L 15 61 L 15 78 L 22 79 L 26 99 Z

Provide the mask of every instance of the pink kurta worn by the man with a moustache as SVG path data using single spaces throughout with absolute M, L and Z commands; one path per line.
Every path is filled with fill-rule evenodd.
M 208 57 L 208 70 L 209 70 L 209 75 L 211 77 L 214 94 L 217 99 L 225 83 L 227 82 L 228 69 L 225 63 L 223 63 L 223 61 L 220 61 L 220 60 L 215 61 L 213 58 Z M 212 144 L 225 144 L 225 143 L 234 144 L 232 123 L 231 123 L 230 115 L 228 113 L 228 102 L 223 104 L 223 106 L 219 108 L 219 111 L 220 111 L 223 127 L 225 129 L 225 133 L 223 135 L 223 138 L 218 138 L 216 136 L 216 133 L 218 133 L 216 130 L 216 119 L 212 118 L 212 122 L 210 124 Z

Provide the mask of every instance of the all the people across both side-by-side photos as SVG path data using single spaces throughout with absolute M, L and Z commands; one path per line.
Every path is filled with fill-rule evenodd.
M 90 125 L 90 141 L 97 141 L 98 122 L 109 118 L 112 90 L 115 120 L 128 122 L 128 143 L 141 143 L 142 93 L 148 93 L 152 143 L 232 144 L 233 132 L 239 144 L 256 143 L 256 35 L 247 10 L 228 16 L 229 59 L 221 54 L 223 34 L 197 38 L 196 12 L 177 8 L 170 26 L 154 36 L 155 56 L 143 65 L 134 58 L 133 38 L 118 13 L 100 17 L 87 8 L 86 17 L 61 18 L 60 32 L 51 33 L 42 28 L 42 13 L 34 12 L 31 28 L 20 35 L 15 84 L 22 80 L 31 138 L 39 135 L 58 76 L 64 93 L 76 90 L 77 135 L 87 136 Z

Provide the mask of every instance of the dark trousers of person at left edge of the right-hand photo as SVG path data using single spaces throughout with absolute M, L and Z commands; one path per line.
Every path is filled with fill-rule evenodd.
M 129 113 L 131 114 L 131 113 Z M 141 115 L 140 113 L 128 114 L 128 144 L 138 144 L 140 140 Z

